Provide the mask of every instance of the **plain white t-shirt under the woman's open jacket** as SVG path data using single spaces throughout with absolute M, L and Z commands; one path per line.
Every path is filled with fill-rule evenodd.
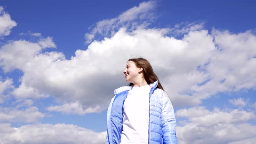
M 132 87 L 124 102 L 120 144 L 148 144 L 150 86 Z

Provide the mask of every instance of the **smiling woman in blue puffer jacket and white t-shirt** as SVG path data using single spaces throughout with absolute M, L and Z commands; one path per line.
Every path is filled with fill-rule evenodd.
M 124 74 L 130 85 L 114 92 L 106 144 L 177 144 L 173 106 L 148 60 L 129 59 Z

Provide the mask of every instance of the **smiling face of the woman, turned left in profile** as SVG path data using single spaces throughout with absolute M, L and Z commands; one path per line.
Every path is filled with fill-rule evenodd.
M 135 65 L 135 62 L 128 61 L 124 70 L 126 82 L 134 83 L 138 78 L 140 68 Z

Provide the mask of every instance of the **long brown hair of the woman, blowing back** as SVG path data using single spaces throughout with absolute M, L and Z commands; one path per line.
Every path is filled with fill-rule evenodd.
M 128 61 L 133 61 L 138 68 L 143 68 L 144 79 L 148 84 L 158 81 L 157 88 L 160 88 L 164 91 L 164 88 L 159 82 L 157 75 L 154 73 L 153 68 L 147 59 L 136 58 L 136 59 L 129 59 Z M 130 83 L 129 85 L 131 86 L 133 85 L 133 83 Z

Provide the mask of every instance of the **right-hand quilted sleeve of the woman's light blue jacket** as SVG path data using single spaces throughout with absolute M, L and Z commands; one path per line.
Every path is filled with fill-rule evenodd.
M 164 144 L 177 144 L 176 118 L 171 100 L 166 92 L 162 96 L 162 131 Z

